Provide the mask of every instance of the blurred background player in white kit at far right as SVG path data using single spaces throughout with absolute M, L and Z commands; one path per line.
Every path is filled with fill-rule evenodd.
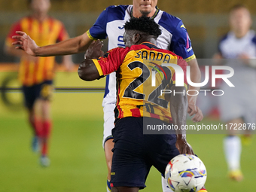
M 242 137 L 250 139 L 249 128 L 256 122 L 256 36 L 251 28 L 251 14 L 245 5 L 235 5 L 230 10 L 230 32 L 219 44 L 215 59 L 224 59 L 226 66 L 234 70 L 229 80 L 235 87 L 221 84 L 224 95 L 219 97 L 221 120 L 227 125 L 228 136 L 224 139 L 224 153 L 229 177 L 241 181 L 241 139 L 237 130 L 245 130 Z M 251 124 L 250 124 L 251 123 Z

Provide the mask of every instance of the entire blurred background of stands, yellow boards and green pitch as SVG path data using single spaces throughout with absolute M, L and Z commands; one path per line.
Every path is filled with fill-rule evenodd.
M 158 7 L 180 17 L 190 35 L 199 59 L 212 58 L 218 41 L 229 30 L 228 11 L 237 3 L 248 5 L 256 20 L 254 0 L 159 0 Z M 131 0 L 51 0 L 50 15 L 64 23 L 70 37 L 86 32 L 99 14 L 109 5 L 130 5 Z M 43 169 L 37 154 L 30 151 L 32 136 L 23 108 L 23 97 L 17 81 L 18 59 L 8 56 L 3 48 L 11 24 L 29 13 L 26 0 L 0 0 L 0 191 L 105 191 L 107 169 L 102 149 L 102 98 L 105 79 L 81 81 L 74 72 L 57 68 L 55 86 L 98 88 L 98 90 L 56 90 L 52 102 L 53 135 L 51 166 Z M 252 26 L 256 29 L 256 23 Z M 107 41 L 105 41 L 107 50 Z M 72 56 L 81 62 L 84 54 Z M 59 61 L 57 57 L 56 61 Z M 3 87 L 13 87 L 6 91 Z M 215 106 L 212 107 L 215 110 Z M 204 123 L 218 123 L 218 111 L 206 117 Z M 189 121 L 189 123 L 191 123 Z M 255 142 L 242 151 L 245 179 L 236 183 L 227 178 L 227 166 L 222 151 L 223 135 L 189 135 L 208 170 L 206 187 L 209 191 L 251 190 L 256 168 Z M 161 191 L 160 173 L 152 169 L 144 191 Z

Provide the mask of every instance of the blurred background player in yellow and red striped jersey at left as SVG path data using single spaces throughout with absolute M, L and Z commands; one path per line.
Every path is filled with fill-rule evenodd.
M 50 95 L 53 91 L 55 57 L 35 57 L 16 50 L 12 43 L 16 31 L 23 31 L 33 37 L 36 44 L 44 46 L 54 44 L 69 38 L 65 27 L 53 17 L 47 15 L 50 8 L 50 0 L 29 0 L 32 14 L 21 18 L 11 27 L 11 31 L 5 41 L 6 53 L 20 56 L 19 80 L 23 84 L 26 108 L 29 111 L 29 122 L 35 133 L 32 141 L 34 151 L 38 149 L 38 141 L 41 143 L 41 165 L 48 166 L 47 140 L 50 136 Z M 71 56 L 63 56 L 63 64 L 70 69 L 72 67 Z

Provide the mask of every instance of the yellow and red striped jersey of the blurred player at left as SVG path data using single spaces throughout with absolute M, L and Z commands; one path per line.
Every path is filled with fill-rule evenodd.
M 56 41 L 63 41 L 69 38 L 63 24 L 52 17 L 47 17 L 39 22 L 33 17 L 23 17 L 11 27 L 6 38 L 6 46 L 13 46 L 15 40 L 11 37 L 17 35 L 16 31 L 23 31 L 29 35 L 38 46 L 55 44 Z M 43 81 L 52 80 L 54 75 L 54 56 L 35 57 L 26 55 L 20 59 L 19 79 L 23 85 L 32 86 Z

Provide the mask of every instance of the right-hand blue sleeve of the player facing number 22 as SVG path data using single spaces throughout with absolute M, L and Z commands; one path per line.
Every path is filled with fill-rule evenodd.
M 196 58 L 191 46 L 190 38 L 187 34 L 187 29 L 185 28 L 182 21 L 178 23 L 172 35 L 171 48 L 175 54 L 182 56 L 182 58 L 187 62 Z

